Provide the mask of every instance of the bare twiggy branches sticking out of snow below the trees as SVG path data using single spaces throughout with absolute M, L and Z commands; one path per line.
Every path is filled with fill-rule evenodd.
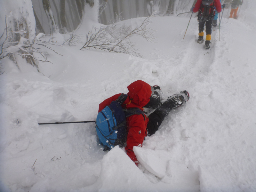
M 92 31 L 86 35 L 86 42 L 81 49 L 94 48 L 108 52 L 127 53 L 135 56 L 140 56 L 139 49 L 135 48 L 136 43 L 130 40 L 132 35 L 139 35 L 149 42 L 154 42 L 154 30 L 148 28 L 151 23 L 149 20 L 151 16 L 147 17 L 139 27 L 132 29 L 132 26 L 125 24 L 117 28 L 116 24 L 108 26 L 101 26 L 100 28 L 93 27 Z M 80 50 L 81 50 L 80 49 Z

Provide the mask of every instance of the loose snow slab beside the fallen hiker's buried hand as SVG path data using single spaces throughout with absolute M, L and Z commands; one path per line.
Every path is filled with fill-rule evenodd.
M 160 179 L 166 174 L 167 162 L 160 159 L 156 152 L 152 149 L 133 147 L 133 151 L 138 161 L 145 167 L 149 172 L 153 173 Z

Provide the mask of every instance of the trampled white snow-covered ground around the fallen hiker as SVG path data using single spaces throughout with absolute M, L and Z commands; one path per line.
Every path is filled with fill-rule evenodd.
M 255 10 L 245 1 L 234 20 L 225 9 L 209 50 L 196 43 L 195 17 L 183 40 L 188 17 L 156 16 L 157 43 L 132 37 L 143 58 L 78 44 L 54 47 L 63 56 L 45 50 L 54 64 L 41 62 L 41 73 L 1 60 L 10 73 L 0 75 L 0 191 L 256 191 Z M 163 99 L 190 93 L 134 148 L 139 167 L 124 149 L 104 152 L 94 123 L 38 125 L 95 120 L 102 100 L 138 79 L 161 86 Z

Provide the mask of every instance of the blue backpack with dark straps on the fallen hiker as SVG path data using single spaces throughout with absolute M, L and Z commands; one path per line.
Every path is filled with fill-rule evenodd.
M 126 117 L 141 114 L 145 120 L 145 115 L 139 108 L 122 108 L 127 96 L 122 93 L 117 100 L 98 113 L 96 132 L 104 151 L 109 151 L 116 145 L 124 147 L 127 139 Z

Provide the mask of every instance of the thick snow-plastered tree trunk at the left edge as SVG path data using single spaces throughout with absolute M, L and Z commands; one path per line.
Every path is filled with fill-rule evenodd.
M 36 21 L 31 0 L 9 0 L 2 3 L 5 7 L 5 20 L 1 20 L 0 59 L 9 57 L 19 68 L 16 57 L 21 56 L 38 68 L 33 52 L 29 48 L 36 37 Z

